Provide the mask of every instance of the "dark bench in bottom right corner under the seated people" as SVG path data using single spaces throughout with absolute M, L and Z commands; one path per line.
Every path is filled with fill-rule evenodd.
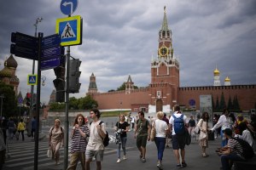
M 235 170 L 254 170 L 256 167 L 256 156 L 247 161 L 234 161 Z

